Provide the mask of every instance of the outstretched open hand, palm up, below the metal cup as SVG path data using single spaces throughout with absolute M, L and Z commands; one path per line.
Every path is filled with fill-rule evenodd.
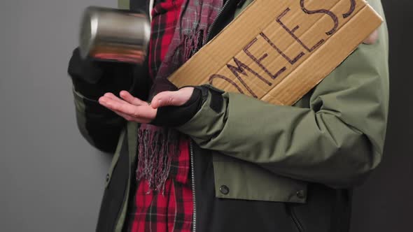
M 120 98 L 115 94 L 106 93 L 99 98 L 99 103 L 128 121 L 149 123 L 155 119 L 158 108 L 182 106 L 190 99 L 193 91 L 193 87 L 185 87 L 178 91 L 160 92 L 153 97 L 151 104 L 132 96 L 127 91 L 121 91 Z

